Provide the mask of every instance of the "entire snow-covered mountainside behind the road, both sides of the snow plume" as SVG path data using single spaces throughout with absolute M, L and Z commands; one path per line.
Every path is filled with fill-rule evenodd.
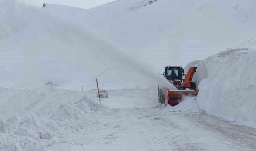
M 147 88 L 162 81 L 156 74 L 165 65 L 203 59 L 256 33 L 253 0 L 118 0 L 92 9 L 0 3 L 6 88 L 89 90 L 95 78 L 104 89 Z

